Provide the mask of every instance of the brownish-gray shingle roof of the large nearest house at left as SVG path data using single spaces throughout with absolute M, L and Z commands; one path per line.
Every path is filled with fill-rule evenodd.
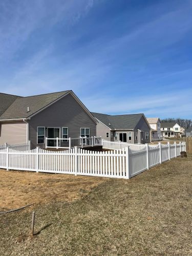
M 7 96 L 4 96 L 2 93 L 0 93 L 0 120 L 30 117 L 68 92 L 70 91 L 28 97 L 19 97 L 8 94 Z M 29 112 L 27 112 L 28 106 Z

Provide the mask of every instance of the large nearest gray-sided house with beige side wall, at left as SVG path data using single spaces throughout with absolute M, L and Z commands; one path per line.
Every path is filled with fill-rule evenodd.
M 0 93 L 0 144 L 96 136 L 97 121 L 72 91 L 20 97 Z

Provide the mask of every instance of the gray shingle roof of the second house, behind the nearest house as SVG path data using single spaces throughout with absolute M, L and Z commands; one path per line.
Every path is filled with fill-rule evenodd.
M 93 113 L 92 115 L 99 121 L 104 123 L 112 130 L 133 130 L 137 123 L 141 119 L 143 114 L 131 114 L 131 115 L 106 115 L 100 113 Z

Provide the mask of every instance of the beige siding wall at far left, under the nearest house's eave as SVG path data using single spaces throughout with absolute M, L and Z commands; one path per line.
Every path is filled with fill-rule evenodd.
M 27 124 L 24 122 L 0 123 L 0 144 L 25 143 L 27 141 Z

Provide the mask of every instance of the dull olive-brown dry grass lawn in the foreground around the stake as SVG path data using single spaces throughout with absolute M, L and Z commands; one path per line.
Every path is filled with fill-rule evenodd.
M 192 255 L 191 178 L 192 158 L 177 158 L 72 202 L 37 204 L 33 238 L 29 210 L 2 215 L 0 255 Z

